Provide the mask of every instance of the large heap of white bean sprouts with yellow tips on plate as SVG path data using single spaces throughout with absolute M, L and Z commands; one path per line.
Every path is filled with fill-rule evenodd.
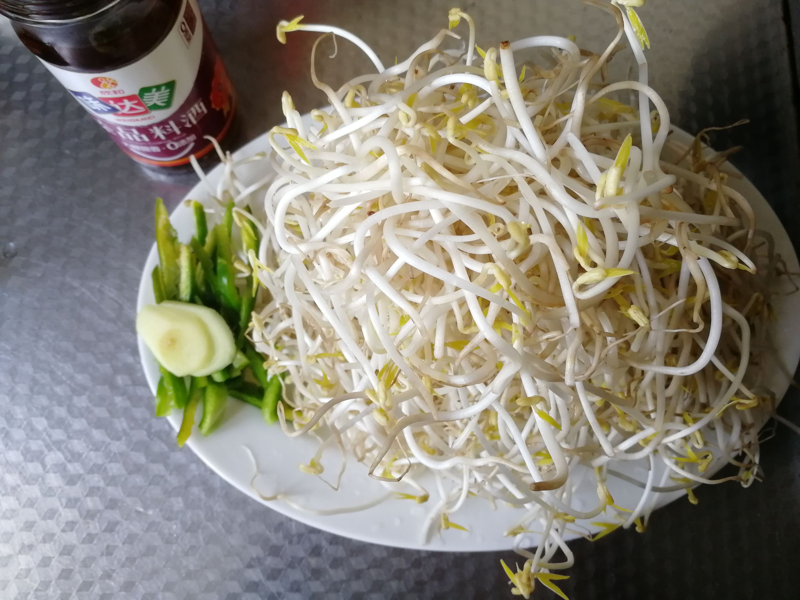
M 386 68 L 353 34 L 281 22 L 282 42 L 334 34 L 375 71 L 319 81 L 323 35 L 311 77 L 330 109 L 306 127 L 284 93 L 286 127 L 245 161 L 275 174 L 245 186 L 228 155 L 214 190 L 241 205 L 267 188 L 254 214 L 237 211 L 263 235 L 243 266 L 263 286 L 250 336 L 287 373 L 283 430 L 322 442 L 301 469 L 322 477 L 326 448 L 366 463 L 405 486 L 395 498 L 430 500 L 426 536 L 462 529 L 451 518 L 469 495 L 520 507 L 506 533 L 526 562 L 503 566 L 525 598 L 536 582 L 561 594 L 552 571 L 572 565 L 564 535 L 579 522 L 606 513 L 596 537 L 643 530 L 658 494 L 749 486 L 774 409 L 748 370 L 780 267 L 770 235 L 705 131 L 670 147 L 643 0 L 584 1 L 617 23 L 602 54 L 550 35 L 484 51 L 453 9 L 450 30 Z M 625 43 L 638 78 L 609 82 Z M 726 463 L 738 474 L 709 478 Z M 571 503 L 579 470 L 596 478 L 589 510 Z M 638 504 L 616 505 L 610 478 L 641 487 Z

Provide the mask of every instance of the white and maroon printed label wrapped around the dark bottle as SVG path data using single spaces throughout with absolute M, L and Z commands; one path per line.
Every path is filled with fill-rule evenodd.
M 197 0 L 184 0 L 175 26 L 144 58 L 107 73 L 48 70 L 139 162 L 178 166 L 214 150 L 234 118 L 233 86 Z

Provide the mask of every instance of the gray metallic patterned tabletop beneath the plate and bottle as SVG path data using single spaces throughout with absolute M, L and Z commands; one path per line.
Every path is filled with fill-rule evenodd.
M 354 30 L 385 62 L 446 24 L 446 0 L 201 2 L 242 96 L 246 137 L 300 110 L 312 36 L 274 41 L 279 18 Z M 577 34 L 598 47 L 604 15 L 571 0 L 464 2 L 478 42 Z M 779 0 L 652 0 L 654 86 L 687 130 L 749 117 L 715 143 L 798 231 L 798 136 Z M 340 44 L 318 59 L 340 83 L 366 66 Z M 134 298 L 153 236 L 154 182 L 115 149 L 0 21 L 0 597 L 506 598 L 505 554 L 437 554 L 352 542 L 291 522 L 178 451 L 153 417 Z M 13 245 L 13 246 L 12 246 Z M 800 419 L 791 390 L 782 414 Z M 564 590 L 589 598 L 797 598 L 800 438 L 763 446 L 765 480 L 703 488 L 646 534 L 574 543 Z M 539 592 L 540 590 L 538 590 Z M 546 590 L 538 597 L 550 598 Z

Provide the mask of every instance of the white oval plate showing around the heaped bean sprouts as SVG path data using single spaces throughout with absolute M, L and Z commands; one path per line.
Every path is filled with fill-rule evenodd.
M 306 122 L 310 124 L 310 118 L 307 115 Z M 682 130 L 674 130 L 671 139 L 682 145 L 688 145 L 692 140 L 691 136 Z M 269 143 L 264 134 L 239 150 L 237 156 L 250 156 L 268 149 Z M 259 178 L 264 177 L 265 168 L 268 169 L 269 166 L 266 166 L 264 162 L 258 162 L 257 166 L 244 167 L 241 171 L 242 180 L 246 183 L 258 181 Z M 222 168 L 218 166 L 208 175 L 210 184 L 216 186 L 221 176 Z M 758 227 L 770 231 L 774 235 L 776 250 L 786 258 L 789 269 L 794 272 L 800 270 L 789 236 L 763 196 L 745 178 L 732 178 L 730 186 L 736 188 L 750 200 L 758 218 Z M 210 200 L 206 188 L 201 184 L 195 186 L 186 198 L 200 202 Z M 172 214 L 171 220 L 178 231 L 178 237 L 184 242 L 188 241 L 194 234 L 194 217 L 191 209 L 181 203 Z M 142 281 L 139 284 L 137 310 L 145 304 L 154 302 L 150 272 L 156 264 L 158 264 L 158 254 L 154 245 L 147 257 Z M 800 294 L 778 298 L 774 310 L 777 315 L 774 321 L 774 339 L 778 355 L 782 357 L 783 362 L 789 366 L 790 370 L 794 371 L 794 366 L 800 359 L 800 336 L 797 335 L 795 326 L 796 315 L 800 314 Z M 786 326 L 787 323 L 792 323 L 793 326 Z M 155 393 L 159 378 L 158 366 L 141 339 L 138 343 L 147 382 Z M 789 386 L 786 375 L 774 365 L 766 364 L 764 368 L 770 370 L 764 381 L 770 384 L 778 398 L 782 398 Z M 151 402 L 151 399 L 142 398 L 142 402 Z M 175 430 L 178 430 L 180 420 L 181 415 L 177 413 L 169 417 Z M 422 505 L 409 500 L 393 498 L 360 512 L 318 516 L 297 510 L 280 500 L 263 502 L 250 485 L 250 480 L 254 476 L 254 468 L 245 446 L 253 452 L 258 462 L 261 475 L 255 481 L 255 486 L 262 494 L 271 495 L 281 492 L 289 495 L 294 502 L 302 506 L 331 509 L 366 504 L 371 499 L 386 494 L 386 490 L 381 484 L 367 476 L 366 466 L 358 464 L 354 460 L 348 464 L 342 486 L 338 491 L 326 486 L 319 478 L 302 474 L 298 470 L 298 464 L 309 462 L 317 450 L 317 443 L 310 438 L 286 438 L 279 426 L 267 426 L 259 411 L 253 406 L 234 400 L 228 403 L 228 414 L 222 426 L 207 438 L 195 430 L 189 438 L 188 446 L 220 477 L 258 502 L 310 526 L 364 542 L 452 552 L 508 550 L 511 547 L 512 538 L 503 536 L 503 532 L 513 526 L 514 522 L 522 516 L 522 509 L 498 506 L 497 510 L 492 510 L 485 500 L 468 498 L 462 510 L 454 515 L 454 521 L 465 526 L 470 533 L 450 529 L 443 531 L 440 536 L 434 535 L 433 539 L 425 544 L 422 540 L 422 524 L 438 500 L 432 481 L 422 480 L 423 485 L 426 485 L 431 492 L 430 501 Z M 186 450 L 178 450 L 177 446 L 175 451 L 186 452 Z M 326 451 L 322 460 L 323 465 L 326 466 L 326 475 L 336 473 L 339 460 L 337 451 Z M 646 479 L 646 471 L 642 466 L 632 464 L 626 466 L 628 467 L 625 469 L 626 473 L 638 478 L 639 481 Z M 576 472 L 573 475 L 579 476 L 580 474 Z M 658 482 L 658 480 L 657 473 L 655 481 Z M 586 478 L 586 485 L 578 489 L 575 496 L 576 502 L 574 502 L 576 508 L 589 510 L 596 506 L 597 493 L 592 481 L 593 478 Z M 633 508 L 638 502 L 640 495 L 638 488 L 614 478 L 609 478 L 608 486 L 619 506 Z M 746 494 L 747 492 L 732 488 L 731 493 Z M 659 494 L 658 506 L 672 502 L 682 495 L 683 492 Z M 602 520 L 599 517 L 597 519 Z M 598 530 L 598 527 L 588 523 L 580 524 L 587 526 L 590 530 Z M 575 537 L 577 536 L 574 534 L 567 534 L 568 539 Z M 535 544 L 536 540 L 531 539 L 530 543 L 526 545 L 534 546 Z

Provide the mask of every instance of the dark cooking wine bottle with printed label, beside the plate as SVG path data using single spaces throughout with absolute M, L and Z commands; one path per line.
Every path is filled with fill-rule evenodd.
M 196 0 L 0 0 L 22 43 L 142 165 L 234 142 L 236 97 Z

